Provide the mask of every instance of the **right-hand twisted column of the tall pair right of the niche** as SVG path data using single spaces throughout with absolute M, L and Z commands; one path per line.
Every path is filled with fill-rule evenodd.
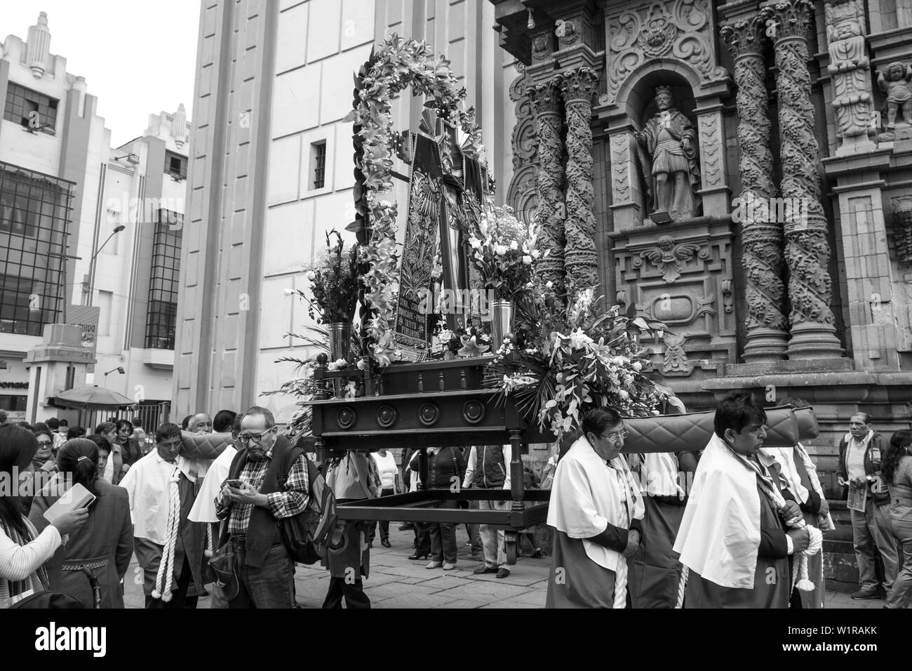
M 810 0 L 784 0 L 765 6 L 767 34 L 774 36 L 779 128 L 782 136 L 780 191 L 785 222 L 785 261 L 789 267 L 790 360 L 833 359 L 842 355 L 830 309 L 832 282 L 827 265 L 826 218 L 820 203 L 814 105 L 808 72 Z M 779 209 L 779 208 L 777 208 Z

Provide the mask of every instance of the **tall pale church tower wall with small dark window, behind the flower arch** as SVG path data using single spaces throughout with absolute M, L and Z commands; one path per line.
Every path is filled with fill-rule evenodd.
M 493 6 L 474 0 L 202 4 L 177 415 L 261 404 L 284 422 L 295 410 L 294 397 L 261 395 L 294 375 L 294 364 L 276 359 L 306 355 L 286 334 L 303 332 L 307 309 L 284 289 L 306 288 L 302 264 L 324 246 L 324 232 L 344 232 L 354 219 L 352 124 L 343 119 L 353 73 L 386 36 L 426 40 L 451 60 L 482 123 L 503 203 L 517 70 L 493 23 Z M 398 130 L 418 130 L 422 102 L 410 91 L 394 102 Z M 405 184 L 397 198 L 402 233 Z

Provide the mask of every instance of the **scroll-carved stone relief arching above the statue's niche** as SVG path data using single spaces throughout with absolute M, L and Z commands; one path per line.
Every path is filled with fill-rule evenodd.
M 709 0 L 665 0 L 646 9 L 627 10 L 608 17 L 608 69 L 605 103 L 636 68 L 655 58 L 679 58 L 712 81 L 727 77 L 716 64 Z

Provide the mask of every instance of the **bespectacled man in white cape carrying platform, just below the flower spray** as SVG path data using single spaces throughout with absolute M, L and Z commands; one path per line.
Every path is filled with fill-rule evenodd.
M 627 435 L 620 415 L 596 408 L 583 417 L 582 429 L 554 471 L 545 608 L 624 608 L 627 558 L 639 547 L 643 496 L 620 456 Z

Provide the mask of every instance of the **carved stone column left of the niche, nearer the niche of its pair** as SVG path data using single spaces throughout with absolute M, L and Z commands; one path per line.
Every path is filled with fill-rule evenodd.
M 562 74 L 559 81 L 567 120 L 564 267 L 567 290 L 572 294 L 598 284 L 590 125 L 598 73 L 592 68 L 576 68 Z

